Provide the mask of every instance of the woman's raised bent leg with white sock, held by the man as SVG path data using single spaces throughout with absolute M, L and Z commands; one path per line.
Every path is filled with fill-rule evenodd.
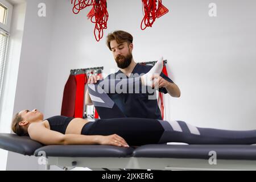
M 152 86 L 152 76 L 156 74 L 160 75 L 162 68 L 163 60 L 159 60 L 148 73 L 141 77 L 105 79 L 99 81 L 97 84 L 88 84 L 90 98 L 100 118 L 126 117 L 108 94 L 152 93 L 154 90 L 147 86 Z M 158 86 L 156 85 L 156 87 Z

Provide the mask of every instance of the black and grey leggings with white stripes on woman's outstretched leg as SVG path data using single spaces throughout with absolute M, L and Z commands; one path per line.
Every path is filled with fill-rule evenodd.
M 207 129 L 183 121 L 160 121 L 145 118 L 98 119 L 86 123 L 84 135 L 112 135 L 123 137 L 131 146 L 167 142 L 188 144 L 254 144 L 256 130 L 232 131 Z

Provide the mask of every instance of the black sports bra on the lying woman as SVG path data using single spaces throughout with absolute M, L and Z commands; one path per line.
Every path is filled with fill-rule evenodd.
M 49 122 L 50 130 L 65 134 L 68 124 L 72 119 L 74 118 L 65 117 L 63 115 L 56 115 L 45 120 Z

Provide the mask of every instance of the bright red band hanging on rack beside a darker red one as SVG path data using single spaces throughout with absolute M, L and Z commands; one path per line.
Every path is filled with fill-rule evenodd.
M 84 109 L 84 83 L 85 83 L 85 74 L 81 73 L 75 75 L 76 77 L 76 102 L 75 102 L 75 118 L 83 117 Z M 87 79 L 87 78 L 86 78 Z

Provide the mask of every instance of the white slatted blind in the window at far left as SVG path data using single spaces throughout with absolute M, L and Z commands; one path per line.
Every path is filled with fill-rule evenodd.
M 2 97 L 3 76 L 5 75 L 6 52 L 9 35 L 0 31 L 0 100 Z

